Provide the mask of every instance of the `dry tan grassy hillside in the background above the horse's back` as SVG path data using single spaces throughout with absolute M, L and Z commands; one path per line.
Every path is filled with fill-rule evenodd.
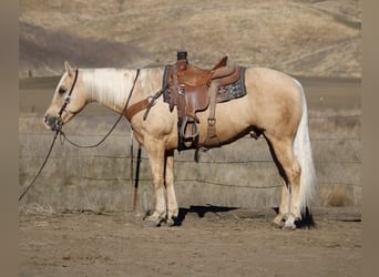
M 20 0 L 20 75 L 173 63 L 186 49 L 309 76 L 361 76 L 361 0 Z

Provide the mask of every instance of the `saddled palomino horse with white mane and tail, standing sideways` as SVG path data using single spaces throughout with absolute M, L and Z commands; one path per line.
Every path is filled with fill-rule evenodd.
M 163 73 L 164 68 L 73 70 L 65 62 L 44 124 L 57 131 L 91 102 L 122 113 L 126 104 L 160 91 Z M 274 223 L 294 229 L 295 223 L 309 213 L 316 185 L 303 86 L 284 73 L 264 68 L 247 68 L 245 86 L 245 96 L 217 104 L 217 136 L 222 144 L 228 144 L 249 132 L 264 135 L 284 184 Z M 178 141 L 176 109 L 170 112 L 160 98 L 145 120 L 143 115 L 139 112 L 130 123 L 136 141 L 146 150 L 153 174 L 155 211 L 146 220 L 153 225 L 162 220 L 174 224 L 178 215 L 173 173 Z M 197 116 L 201 145 L 206 138 L 207 110 Z

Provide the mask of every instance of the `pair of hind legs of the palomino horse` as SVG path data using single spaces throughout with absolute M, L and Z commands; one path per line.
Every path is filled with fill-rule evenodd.
M 284 187 L 279 213 L 274 224 L 295 229 L 295 222 L 301 218 L 300 215 L 300 174 L 301 168 L 296 160 L 291 140 L 268 140 L 269 148 L 276 166 L 281 176 Z

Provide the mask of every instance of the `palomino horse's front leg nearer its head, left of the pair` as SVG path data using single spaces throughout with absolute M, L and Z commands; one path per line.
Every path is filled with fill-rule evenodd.
M 152 142 L 152 141 L 151 141 Z M 160 226 L 162 220 L 166 218 L 166 203 L 164 196 L 164 166 L 165 151 L 164 145 L 160 142 L 152 142 L 145 145 L 150 165 L 153 175 L 153 186 L 155 191 L 155 211 L 151 216 L 145 218 L 146 225 Z

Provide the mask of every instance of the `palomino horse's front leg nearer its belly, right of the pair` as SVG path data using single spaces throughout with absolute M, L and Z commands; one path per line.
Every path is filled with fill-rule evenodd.
M 174 151 L 166 152 L 165 184 L 167 193 L 167 224 L 174 225 L 178 215 L 178 207 L 174 189 Z

